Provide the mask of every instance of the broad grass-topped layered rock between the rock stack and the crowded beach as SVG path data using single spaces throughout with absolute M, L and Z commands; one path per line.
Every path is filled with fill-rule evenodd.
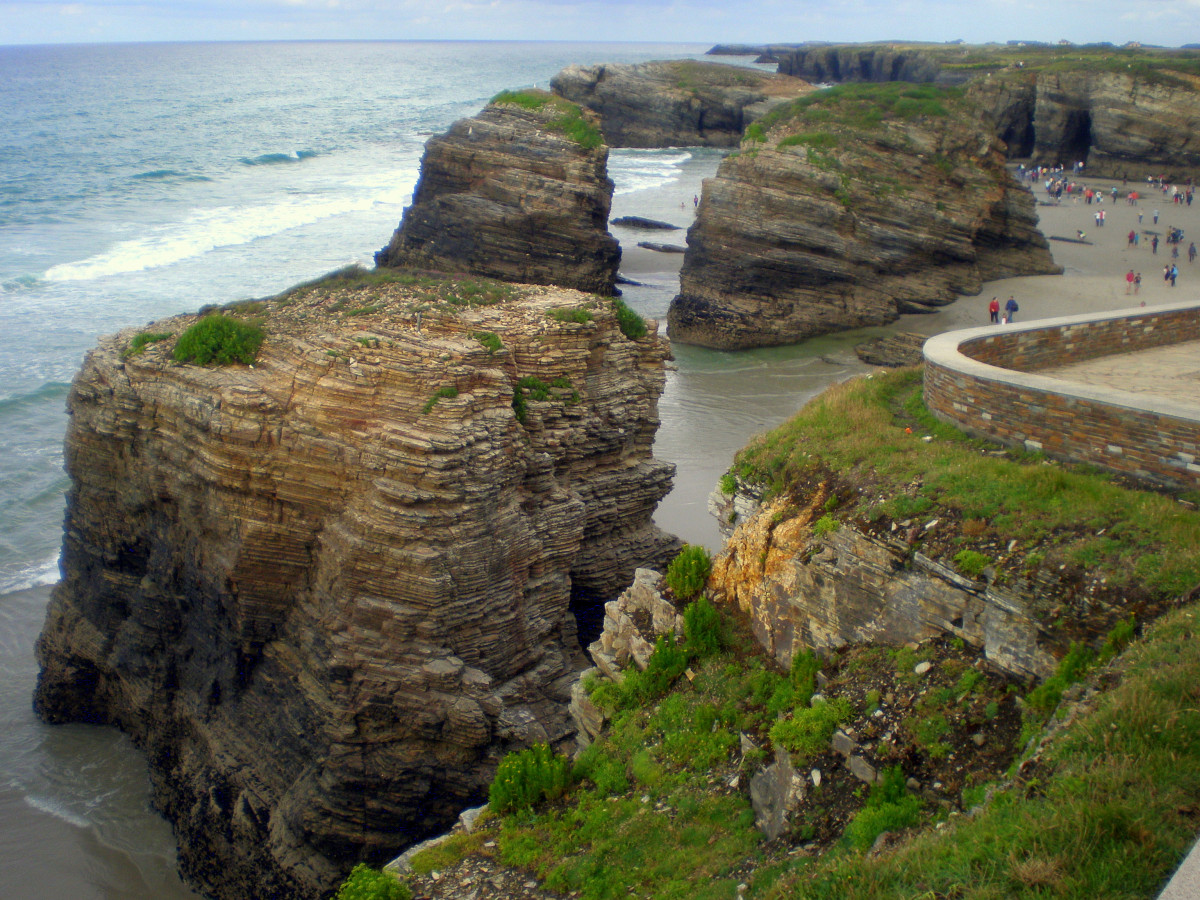
M 846 128 L 800 101 L 766 140 L 748 139 L 704 182 L 672 338 L 792 343 L 929 311 L 991 278 L 1058 271 L 1032 194 L 956 102 L 948 95 L 946 114 Z M 835 101 L 834 115 L 874 114 L 859 103 Z

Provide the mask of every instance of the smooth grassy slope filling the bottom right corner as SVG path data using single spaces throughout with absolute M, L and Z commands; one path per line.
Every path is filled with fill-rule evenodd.
M 1200 792 L 1196 605 L 1118 662 L 1121 683 L 1044 751 L 1034 778 L 973 818 L 893 852 L 797 863 L 752 896 L 890 900 L 1154 896 L 1195 840 Z

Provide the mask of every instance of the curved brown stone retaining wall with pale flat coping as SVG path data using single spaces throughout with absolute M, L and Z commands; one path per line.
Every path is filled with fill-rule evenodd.
M 952 331 L 925 342 L 925 404 L 970 434 L 1198 488 L 1200 398 L 1182 403 L 1036 374 L 1196 340 L 1195 301 Z

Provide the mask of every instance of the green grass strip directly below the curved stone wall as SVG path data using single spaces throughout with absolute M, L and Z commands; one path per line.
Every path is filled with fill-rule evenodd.
M 923 434 L 934 440 L 924 443 Z M 1057 569 L 1086 547 L 1091 568 L 1114 589 L 1136 584 L 1165 599 L 1200 584 L 1195 511 L 1097 472 L 1024 455 L 996 457 L 986 449 L 934 419 L 922 401 L 920 373 L 910 370 L 826 391 L 739 452 L 733 469 L 769 494 L 803 491 L 830 473 L 870 485 L 836 510 L 840 520 L 977 520 L 982 534 L 965 539 L 961 550 L 980 556 L 986 554 L 971 541 L 1007 546 L 1015 540 L 1040 565 Z M 1102 529 L 1104 540 L 1097 541 Z M 961 558 L 971 568 L 982 563 Z M 1022 575 L 1016 563 L 1007 569 L 997 559 L 994 565 L 998 577 Z

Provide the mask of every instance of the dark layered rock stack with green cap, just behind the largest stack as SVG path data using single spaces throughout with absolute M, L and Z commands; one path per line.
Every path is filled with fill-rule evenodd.
M 413 205 L 377 265 L 612 294 L 620 246 L 608 234 L 608 150 L 562 130 L 587 113 L 528 96 L 544 104 L 493 102 L 428 140 Z

